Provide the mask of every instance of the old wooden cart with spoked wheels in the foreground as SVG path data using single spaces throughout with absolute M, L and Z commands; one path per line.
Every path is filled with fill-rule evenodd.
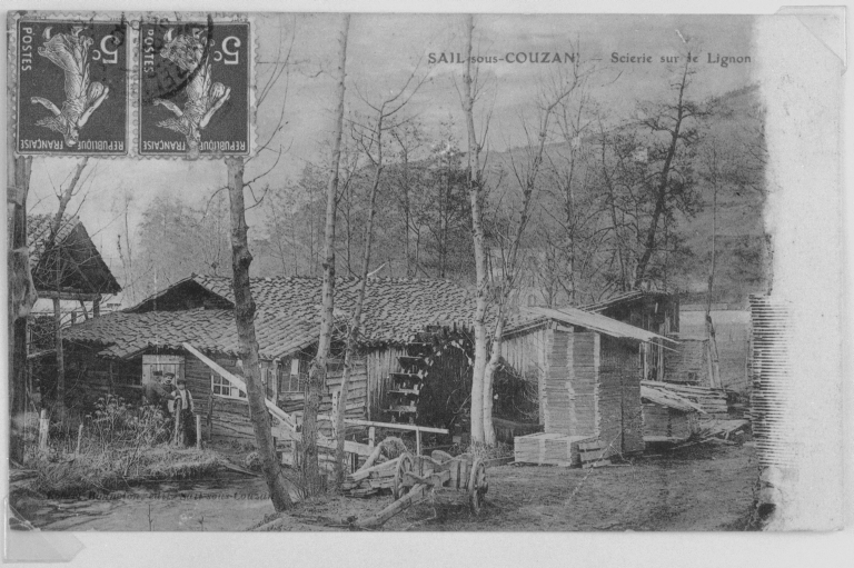
M 433 457 L 404 454 L 379 466 L 356 471 L 348 476 L 348 482 L 354 478 L 361 486 L 371 486 L 371 489 L 390 488 L 395 498 L 391 505 L 378 514 L 356 520 L 352 524 L 356 528 L 380 526 L 404 509 L 426 499 L 430 490 L 441 488 L 466 491 L 471 512 L 479 515 L 484 497 L 489 490 L 486 464 L 481 459 L 473 459 L 468 455 L 454 458 L 445 452 L 434 452 Z

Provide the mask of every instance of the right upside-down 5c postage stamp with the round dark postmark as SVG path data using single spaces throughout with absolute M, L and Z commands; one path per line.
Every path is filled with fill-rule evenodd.
M 145 21 L 139 38 L 139 155 L 247 156 L 249 22 Z

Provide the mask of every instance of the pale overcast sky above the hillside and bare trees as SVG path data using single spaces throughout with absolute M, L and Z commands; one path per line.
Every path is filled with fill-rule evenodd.
M 264 83 L 276 61 L 279 46 L 291 44 L 294 66 L 287 83 L 280 81 L 258 109 L 257 134 L 267 140 L 271 124 L 285 104 L 286 126 L 274 147 L 287 153 L 265 179 L 276 188 L 294 179 L 307 162 L 325 160 L 334 109 L 334 81 L 329 74 L 337 56 L 337 14 L 259 14 L 255 17 L 258 46 L 256 77 Z M 504 58 L 508 52 L 574 51 L 578 42 L 584 60 L 594 61 L 600 72 L 592 82 L 592 94 L 603 113 L 614 121 L 632 114 L 638 102 L 666 96 L 673 69 L 661 64 L 661 56 L 676 56 L 685 41 L 699 54 L 693 96 L 706 98 L 751 82 L 752 66 L 708 64 L 707 54 L 757 58 L 752 44 L 751 17 L 671 16 L 478 16 L 475 19 L 475 51 Z M 464 51 L 465 29 L 460 16 L 355 14 L 351 19 L 347 57 L 348 108 L 358 110 L 357 97 L 377 100 L 399 88 L 420 61 L 429 81 L 413 98 L 408 109 L 419 116 L 426 130 L 438 133 L 443 121 L 456 121 L 456 137 L 465 145 L 464 120 L 454 81 L 464 66 L 429 64 L 429 53 Z M 653 63 L 610 62 L 610 54 L 652 56 Z M 494 150 L 523 142 L 519 116 L 532 112 L 538 79 L 552 66 L 494 63 L 480 67 L 486 82 L 484 104 L 494 107 L 488 143 Z M 287 91 L 286 91 L 287 87 Z M 481 107 L 484 108 L 484 107 Z M 247 166 L 247 178 L 266 171 L 274 152 L 262 152 Z M 32 167 L 30 209 L 52 212 L 54 188 L 67 183 L 72 159 L 36 158 Z M 226 169 L 221 160 L 90 159 L 85 182 L 86 201 L 72 202 L 109 263 L 118 262 L 117 236 L 125 196 L 131 195 L 130 225 L 133 228 L 152 199 L 179 195 L 188 203 L 200 203 L 221 187 Z M 258 219 L 250 216 L 250 226 Z

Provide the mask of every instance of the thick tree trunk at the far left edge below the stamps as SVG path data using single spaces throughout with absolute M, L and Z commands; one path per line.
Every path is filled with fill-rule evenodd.
M 27 246 L 27 195 L 30 190 L 32 158 L 12 153 L 9 143 L 7 160 L 9 188 L 7 196 L 12 209 L 10 218 L 9 250 L 9 458 L 23 464 L 23 426 L 27 411 L 27 315 L 36 301 L 36 288 L 30 275 L 30 253 Z M 11 199 L 10 199 L 11 198 Z

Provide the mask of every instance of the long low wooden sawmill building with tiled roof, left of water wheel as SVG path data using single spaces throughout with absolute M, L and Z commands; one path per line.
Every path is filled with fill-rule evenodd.
M 336 283 L 336 318 L 342 325 L 357 285 L 357 279 L 346 278 Z M 258 278 L 251 286 L 267 398 L 299 423 L 319 337 L 321 281 Z M 425 328 L 470 320 L 471 312 L 470 297 L 451 282 L 370 279 L 347 417 L 378 418 L 393 376 L 401 370 L 407 345 Z M 78 383 L 90 393 L 123 392 L 126 398 L 140 399 L 147 382 L 171 372 L 187 380 L 196 412 L 206 425 L 205 436 L 254 439 L 246 392 L 228 379 L 228 375 L 242 377 L 230 279 L 193 275 L 132 308 L 72 326 L 67 343 L 73 353 L 67 358 L 67 368 L 73 369 Z M 342 361 L 332 358 L 321 415 L 331 410 L 342 370 Z

